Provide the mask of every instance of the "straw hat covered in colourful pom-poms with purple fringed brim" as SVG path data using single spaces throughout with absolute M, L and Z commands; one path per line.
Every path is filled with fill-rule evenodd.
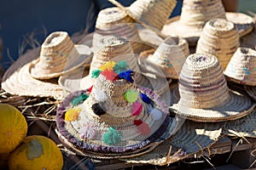
M 69 94 L 57 109 L 60 139 L 79 154 L 131 156 L 166 132 L 168 107 L 149 88 L 138 88 L 127 61 L 108 61 L 87 90 Z M 159 144 L 159 143 L 155 143 Z

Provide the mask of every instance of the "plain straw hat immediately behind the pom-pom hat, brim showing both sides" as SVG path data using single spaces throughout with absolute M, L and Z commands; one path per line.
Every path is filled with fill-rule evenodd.
M 99 69 L 101 65 L 106 64 L 109 60 L 126 60 L 133 71 L 136 71 L 137 73 L 142 72 L 137 57 L 133 54 L 131 43 L 125 38 L 117 36 L 101 37 L 101 40 L 97 44 L 97 48 L 98 50 L 93 55 L 90 64 L 88 76 L 81 77 L 81 74 L 79 74 L 77 79 L 80 79 L 80 81 L 77 83 L 76 88 L 74 88 L 73 82 L 70 81 L 70 75 L 67 74 L 62 76 L 59 79 L 59 83 L 62 87 L 67 90 L 69 89 L 70 92 L 74 92 L 78 89 L 90 88 L 96 80 L 93 78 L 93 71 Z M 145 77 L 142 74 L 137 74 L 135 79 L 137 84 L 143 87 L 153 88 L 154 86 L 154 90 L 158 94 L 164 93 L 168 88 L 166 78 L 158 78 L 157 80 L 154 80 L 154 77 Z

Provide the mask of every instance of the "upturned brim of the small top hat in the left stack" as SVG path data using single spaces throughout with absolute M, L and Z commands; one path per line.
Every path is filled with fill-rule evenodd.
M 67 58 L 67 63 L 65 65 L 65 68 L 63 68 L 63 71 L 45 74 L 44 71 L 35 70 L 36 65 L 38 65 L 38 62 L 40 61 L 40 58 L 38 58 L 32 61 L 31 64 L 29 65 L 30 74 L 34 78 L 45 80 L 45 79 L 60 77 L 61 75 L 72 72 L 75 69 L 79 68 L 79 66 L 81 65 L 84 65 L 84 66 L 90 65 L 90 59 L 92 58 L 92 53 L 90 48 L 82 44 L 76 44 L 74 45 L 74 48 L 75 50 L 77 50 L 79 55 L 76 56 L 75 58 L 73 56 L 69 56 Z

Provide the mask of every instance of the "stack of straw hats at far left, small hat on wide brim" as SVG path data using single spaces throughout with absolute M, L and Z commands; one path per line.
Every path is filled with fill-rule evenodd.
M 55 31 L 41 48 L 28 51 L 9 67 L 2 88 L 9 94 L 63 99 L 58 77 L 88 65 L 90 59 L 90 48 L 74 44 L 65 31 Z

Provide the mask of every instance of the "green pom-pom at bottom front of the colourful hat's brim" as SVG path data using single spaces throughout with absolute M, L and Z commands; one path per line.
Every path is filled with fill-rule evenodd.
M 123 138 L 123 134 L 120 131 L 115 131 L 114 127 L 109 127 L 108 133 L 104 133 L 102 141 L 108 145 L 119 144 Z

